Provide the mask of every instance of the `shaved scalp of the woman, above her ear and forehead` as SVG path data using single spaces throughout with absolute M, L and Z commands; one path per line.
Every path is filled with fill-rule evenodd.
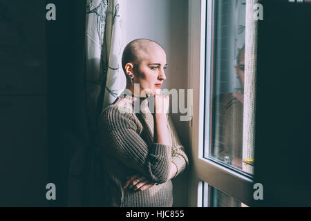
M 133 62 L 134 66 L 139 66 L 140 62 L 147 59 L 149 54 L 157 48 L 163 50 L 160 44 L 149 39 L 135 39 L 127 44 L 122 54 L 122 68 L 124 73 L 126 73 L 124 69 L 126 64 Z

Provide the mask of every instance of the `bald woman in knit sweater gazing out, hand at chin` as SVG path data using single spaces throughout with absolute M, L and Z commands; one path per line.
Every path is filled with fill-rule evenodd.
M 136 39 L 124 48 L 122 67 L 130 95 L 100 116 L 105 205 L 172 206 L 171 179 L 185 170 L 188 159 L 167 115 L 169 99 L 157 93 L 166 79 L 165 52 L 154 41 Z

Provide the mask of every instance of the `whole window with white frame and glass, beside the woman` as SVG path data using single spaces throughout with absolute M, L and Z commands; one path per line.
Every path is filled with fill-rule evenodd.
M 247 3 L 189 2 L 189 86 L 198 97 L 191 128 L 191 206 L 252 206 L 254 150 L 243 145 L 243 133 L 252 133 L 243 131 L 249 120 L 243 97 Z

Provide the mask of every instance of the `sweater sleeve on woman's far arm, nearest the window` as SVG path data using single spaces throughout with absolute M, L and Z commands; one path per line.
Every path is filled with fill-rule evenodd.
M 176 132 L 175 126 L 173 125 L 173 121 L 171 120 L 171 116 L 169 115 L 169 132 L 171 133 L 171 142 L 172 142 L 172 153 L 171 153 L 171 161 L 177 167 L 177 173 L 175 177 L 184 171 L 187 166 L 189 166 L 189 160 L 185 153 L 185 148 L 182 146 L 178 133 Z

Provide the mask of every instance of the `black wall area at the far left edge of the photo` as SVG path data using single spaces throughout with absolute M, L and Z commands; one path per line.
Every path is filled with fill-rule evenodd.
M 43 1 L 0 1 L 0 206 L 48 206 Z

